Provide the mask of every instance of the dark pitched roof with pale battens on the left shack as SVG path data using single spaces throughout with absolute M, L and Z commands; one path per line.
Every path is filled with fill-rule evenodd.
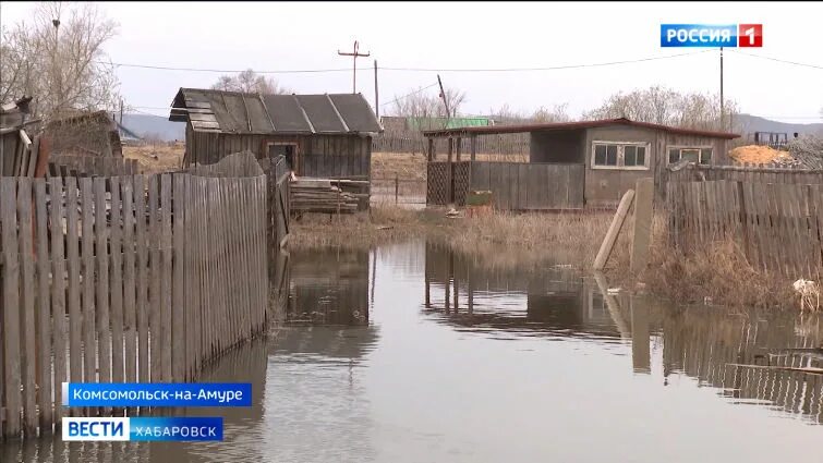
M 257 95 L 181 88 L 170 121 L 191 121 L 195 131 L 259 134 L 383 132 L 360 94 Z

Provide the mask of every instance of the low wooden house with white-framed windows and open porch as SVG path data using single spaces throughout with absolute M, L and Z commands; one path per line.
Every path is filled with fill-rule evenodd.
M 476 159 L 477 137 L 529 134 L 528 162 Z M 628 119 L 494 125 L 426 131 L 429 204 L 464 204 L 465 192 L 491 190 L 501 209 L 579 209 L 617 205 L 640 178 L 659 192 L 666 167 L 680 160 L 729 162 L 726 144 L 739 135 L 673 127 Z M 436 161 L 434 141 L 448 138 L 448 157 Z M 461 161 L 467 148 L 469 161 Z

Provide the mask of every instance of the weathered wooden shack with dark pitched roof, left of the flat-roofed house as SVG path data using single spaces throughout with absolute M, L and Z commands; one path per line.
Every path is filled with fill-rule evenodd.
M 368 180 L 380 123 L 361 94 L 259 95 L 181 88 L 170 121 L 185 122 L 184 165 L 250 150 L 282 155 L 301 176 Z

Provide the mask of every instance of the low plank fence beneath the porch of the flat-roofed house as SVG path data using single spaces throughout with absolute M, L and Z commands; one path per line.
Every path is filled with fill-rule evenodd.
M 536 162 L 428 162 L 428 204 L 465 204 L 468 191 L 492 191 L 504 210 L 583 207 L 583 165 Z

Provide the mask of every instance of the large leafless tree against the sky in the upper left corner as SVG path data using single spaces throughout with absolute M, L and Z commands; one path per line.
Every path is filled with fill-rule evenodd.
M 102 49 L 118 25 L 90 3 L 38 4 L 28 23 L 3 34 L 0 100 L 32 96 L 35 115 L 113 109 L 120 99 L 114 66 Z

